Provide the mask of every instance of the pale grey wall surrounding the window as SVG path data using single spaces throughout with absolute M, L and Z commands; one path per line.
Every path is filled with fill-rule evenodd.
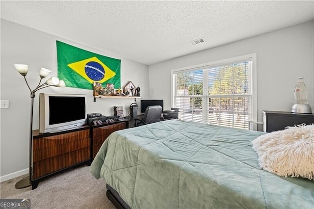
M 308 101 L 314 112 L 314 21 L 150 65 L 150 97 L 163 99 L 164 109 L 169 109 L 172 69 L 250 53 L 257 53 L 259 122 L 262 122 L 263 110 L 291 111 L 298 77 L 305 79 Z M 160 80 L 163 80 L 162 85 Z M 258 129 L 262 131 L 262 126 Z

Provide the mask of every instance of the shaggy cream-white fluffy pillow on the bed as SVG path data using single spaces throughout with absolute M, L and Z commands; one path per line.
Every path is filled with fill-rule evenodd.
M 314 125 L 287 127 L 252 141 L 261 167 L 279 176 L 314 180 Z

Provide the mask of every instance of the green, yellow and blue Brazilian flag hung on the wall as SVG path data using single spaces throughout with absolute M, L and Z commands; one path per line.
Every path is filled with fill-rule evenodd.
M 120 88 L 121 60 L 88 52 L 56 41 L 58 78 L 67 87 L 93 89 L 93 82 L 112 83 Z

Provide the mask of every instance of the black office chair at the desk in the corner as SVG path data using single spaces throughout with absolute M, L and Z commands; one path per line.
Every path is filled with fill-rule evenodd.
M 134 119 L 134 126 L 142 126 L 160 121 L 162 107 L 160 105 L 148 106 L 145 110 L 143 119 Z

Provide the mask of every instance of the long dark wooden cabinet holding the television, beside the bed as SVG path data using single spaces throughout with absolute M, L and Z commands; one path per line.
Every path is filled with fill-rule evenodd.
M 32 189 L 46 178 L 81 165 L 90 165 L 113 131 L 129 128 L 127 120 L 99 126 L 84 125 L 56 133 L 33 131 Z

